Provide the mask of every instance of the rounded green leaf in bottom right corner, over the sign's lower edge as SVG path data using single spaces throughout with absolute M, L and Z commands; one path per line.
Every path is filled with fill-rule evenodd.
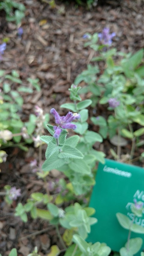
M 134 255 L 142 247 L 143 239 L 140 238 L 140 237 L 132 238 L 132 239 L 129 240 L 128 243 L 125 244 L 125 248 L 127 248 L 127 244 L 128 244 L 129 252 L 131 253 L 131 255 Z

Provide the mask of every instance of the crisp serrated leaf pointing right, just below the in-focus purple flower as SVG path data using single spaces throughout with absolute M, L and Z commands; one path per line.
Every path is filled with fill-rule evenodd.
M 58 157 L 59 158 L 79 158 L 79 159 L 82 159 L 83 155 L 78 149 L 76 149 L 72 146 L 65 145 L 62 149 L 62 152 L 60 152 L 58 154 Z

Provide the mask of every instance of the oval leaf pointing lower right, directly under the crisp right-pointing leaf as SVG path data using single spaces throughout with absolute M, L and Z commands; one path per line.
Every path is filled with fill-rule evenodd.
M 73 159 L 73 161 L 70 162 L 69 167 L 76 173 L 90 174 L 91 172 L 90 167 L 83 159 Z

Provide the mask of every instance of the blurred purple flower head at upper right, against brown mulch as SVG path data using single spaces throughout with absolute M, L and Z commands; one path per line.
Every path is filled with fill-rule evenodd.
M 104 28 L 102 33 L 98 33 L 98 37 L 100 38 L 100 41 L 103 44 L 112 44 L 112 38 L 116 35 L 116 33 L 110 34 L 110 29 L 109 28 Z

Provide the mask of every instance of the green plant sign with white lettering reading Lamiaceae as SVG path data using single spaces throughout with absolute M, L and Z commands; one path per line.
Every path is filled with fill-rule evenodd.
M 127 215 L 132 221 L 134 213 L 131 212 L 131 206 L 134 199 L 144 202 L 144 169 L 109 159 L 106 159 L 105 164 L 100 163 L 89 204 L 96 210 L 93 217 L 98 219 L 98 223 L 91 226 L 87 241 L 105 242 L 113 251 L 124 247 L 129 230 L 119 224 L 116 213 Z M 137 226 L 134 225 L 131 238 L 141 237 L 144 241 L 144 213 L 141 217 L 135 217 L 134 224 Z M 144 242 L 136 255 L 140 255 L 143 249 Z

